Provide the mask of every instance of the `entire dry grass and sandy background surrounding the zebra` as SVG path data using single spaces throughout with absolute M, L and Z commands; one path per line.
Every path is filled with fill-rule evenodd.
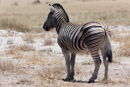
M 33 2 L 37 5 L 32 5 Z M 49 13 L 48 4 L 55 3 L 54 0 L 3 0 L 0 3 L 0 29 L 8 32 L 0 32 L 0 86 L 130 86 L 130 32 L 123 28 L 122 30 L 117 29 L 118 25 L 130 24 L 130 1 L 59 0 L 56 2 L 63 5 L 73 23 L 83 24 L 98 21 L 106 23 L 108 26 L 114 25 L 114 28 L 111 29 L 114 62 L 109 64 L 110 80 L 102 81 L 103 67 L 100 68 L 96 83 L 86 83 L 94 68 L 94 62 L 89 53 L 86 53 L 87 56 L 79 54 L 76 57 L 75 79 L 77 81 L 64 82 L 61 80 L 66 77 L 67 72 L 65 59 L 60 50 L 55 51 L 51 48 L 58 46 L 55 41 L 57 33 L 55 29 L 47 33 L 42 28 Z M 21 35 L 19 32 L 23 32 L 23 34 Z M 18 40 L 20 45 L 17 45 L 17 40 L 8 37 L 22 37 L 23 44 Z M 21 77 L 19 77 L 20 75 Z

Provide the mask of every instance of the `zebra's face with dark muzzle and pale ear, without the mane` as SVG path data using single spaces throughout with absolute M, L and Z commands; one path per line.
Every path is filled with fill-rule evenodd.
M 50 13 L 48 14 L 47 20 L 45 21 L 43 25 L 43 29 L 46 31 L 49 31 L 50 29 L 55 27 L 54 17 L 53 17 L 55 9 L 50 4 L 49 4 L 49 8 L 50 8 Z

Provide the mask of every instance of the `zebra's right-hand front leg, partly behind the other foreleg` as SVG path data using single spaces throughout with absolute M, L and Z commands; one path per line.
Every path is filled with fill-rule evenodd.
M 70 64 L 71 64 L 71 74 L 70 74 L 70 78 L 71 80 L 74 79 L 74 65 L 75 65 L 75 57 L 76 57 L 76 54 L 75 53 L 71 53 L 71 61 L 70 61 Z

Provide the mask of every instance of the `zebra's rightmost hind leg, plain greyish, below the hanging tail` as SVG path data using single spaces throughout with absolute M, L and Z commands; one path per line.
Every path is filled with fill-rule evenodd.
M 104 74 L 104 79 L 103 80 L 107 80 L 108 78 L 108 60 L 107 60 L 107 54 L 105 49 L 101 49 L 102 52 L 102 56 L 103 56 L 103 63 L 105 66 L 105 74 Z

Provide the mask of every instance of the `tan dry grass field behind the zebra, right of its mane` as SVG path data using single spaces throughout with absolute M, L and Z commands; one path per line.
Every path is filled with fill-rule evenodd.
M 129 24 L 129 1 L 87 1 L 64 5 L 70 20 L 77 24 L 99 21 L 109 25 Z M 75 7 L 75 8 L 74 8 Z M 118 8 L 117 8 L 118 7 Z M 73 10 L 72 10 L 73 9 Z M 76 11 L 75 11 L 76 10 Z

